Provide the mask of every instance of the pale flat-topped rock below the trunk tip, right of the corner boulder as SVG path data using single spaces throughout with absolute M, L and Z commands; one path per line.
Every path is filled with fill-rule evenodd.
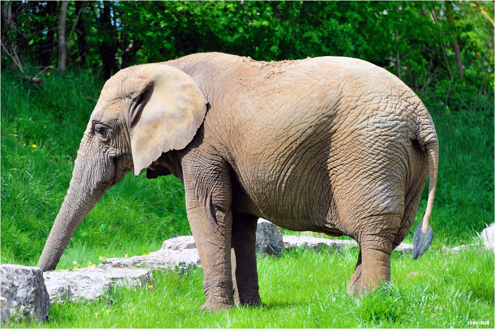
M 95 301 L 109 297 L 112 287 L 154 285 L 153 275 L 144 269 L 100 268 L 96 266 L 43 273 L 52 302 Z

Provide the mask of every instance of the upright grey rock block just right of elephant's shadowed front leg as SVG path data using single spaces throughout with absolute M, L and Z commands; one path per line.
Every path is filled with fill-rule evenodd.
M 269 255 L 283 254 L 284 241 L 282 230 L 266 219 L 258 219 L 256 227 L 256 252 Z

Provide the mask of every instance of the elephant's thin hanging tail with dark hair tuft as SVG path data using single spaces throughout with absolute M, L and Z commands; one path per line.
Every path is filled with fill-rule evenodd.
M 428 115 L 427 122 L 421 125 L 423 129 L 420 129 L 418 134 L 418 141 L 426 148 L 428 154 L 428 167 L 430 177 L 430 188 L 428 192 L 428 203 L 426 205 L 425 215 L 423 220 L 419 224 L 416 232 L 414 232 L 413 239 L 413 259 L 423 256 L 428 250 L 433 240 L 433 230 L 428 225 L 433 209 L 433 202 L 435 201 L 435 190 L 437 188 L 437 175 L 438 175 L 438 137 L 435 132 L 435 126 L 430 115 Z

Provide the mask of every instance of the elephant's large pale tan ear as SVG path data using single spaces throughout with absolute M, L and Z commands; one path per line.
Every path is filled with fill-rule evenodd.
M 137 67 L 132 76 L 142 93 L 131 100 L 129 131 L 134 174 L 158 159 L 162 152 L 182 149 L 201 126 L 208 101 L 186 73 L 168 65 Z

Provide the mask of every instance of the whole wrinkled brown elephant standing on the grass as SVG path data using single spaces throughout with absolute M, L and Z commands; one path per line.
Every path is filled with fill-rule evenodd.
M 118 71 L 84 132 L 38 267 L 54 270 L 78 225 L 131 171 L 173 174 L 204 274 L 206 310 L 264 306 L 259 217 L 292 231 L 347 235 L 360 247 L 352 295 L 391 280 L 391 253 L 438 172 L 428 110 L 399 78 L 349 57 L 263 62 L 209 52 Z M 426 241 L 426 242 L 425 242 Z M 419 243 L 419 244 L 418 244 Z

